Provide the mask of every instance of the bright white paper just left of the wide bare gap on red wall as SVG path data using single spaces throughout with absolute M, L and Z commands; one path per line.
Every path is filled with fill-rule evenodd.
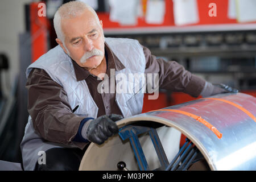
M 199 22 L 196 0 L 172 0 L 174 2 L 174 22 L 181 26 Z

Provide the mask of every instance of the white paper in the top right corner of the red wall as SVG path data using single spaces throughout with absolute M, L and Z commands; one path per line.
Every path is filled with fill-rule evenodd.
M 256 21 L 256 1 L 255 0 L 237 0 L 237 20 L 238 22 Z

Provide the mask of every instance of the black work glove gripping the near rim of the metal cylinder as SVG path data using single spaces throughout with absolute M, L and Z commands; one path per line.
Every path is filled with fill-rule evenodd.
M 91 120 L 86 129 L 86 138 L 93 143 L 104 143 L 109 137 L 118 133 L 115 121 L 122 118 L 122 115 L 110 114 Z

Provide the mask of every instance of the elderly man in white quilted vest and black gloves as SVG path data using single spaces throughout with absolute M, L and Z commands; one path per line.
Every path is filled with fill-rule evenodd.
M 137 40 L 104 38 L 102 21 L 85 3 L 62 5 L 53 22 L 59 46 L 26 72 L 30 117 L 20 144 L 26 170 L 77 170 L 90 142 L 104 143 L 118 133 L 115 121 L 141 113 L 143 93 L 98 92 L 102 80 L 118 81 L 119 73 L 158 73 L 160 88 L 193 97 L 233 92 L 156 59 Z

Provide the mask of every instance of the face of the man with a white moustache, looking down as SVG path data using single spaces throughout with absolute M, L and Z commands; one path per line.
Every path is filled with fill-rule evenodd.
M 61 29 L 65 36 L 65 47 L 59 39 L 56 41 L 80 67 L 92 69 L 101 64 L 105 42 L 102 22 L 97 22 L 90 11 L 76 18 L 63 19 Z

